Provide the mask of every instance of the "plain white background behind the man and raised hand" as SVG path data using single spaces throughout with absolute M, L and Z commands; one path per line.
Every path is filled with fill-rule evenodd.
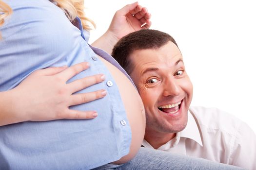
M 92 43 L 114 13 L 134 0 L 85 0 L 97 24 Z M 256 132 L 256 5 L 254 0 L 139 0 L 152 29 L 172 35 L 194 85 L 193 106 L 217 107 Z

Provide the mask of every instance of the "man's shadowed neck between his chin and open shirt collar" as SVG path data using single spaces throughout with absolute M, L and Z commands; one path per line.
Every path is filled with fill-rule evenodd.
M 158 149 L 176 136 L 176 133 L 159 133 L 152 130 L 145 131 L 144 139 L 154 148 Z

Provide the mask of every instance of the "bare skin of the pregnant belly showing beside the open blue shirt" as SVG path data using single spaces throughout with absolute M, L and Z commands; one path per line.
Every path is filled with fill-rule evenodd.
M 130 80 L 114 65 L 98 56 L 111 72 L 124 104 L 126 115 L 132 130 L 132 141 L 129 154 L 123 156 L 116 164 L 122 164 L 131 160 L 138 152 L 145 133 L 145 111 L 137 89 Z

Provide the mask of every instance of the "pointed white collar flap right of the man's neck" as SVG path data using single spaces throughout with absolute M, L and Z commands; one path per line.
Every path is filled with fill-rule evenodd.
M 195 140 L 200 146 L 203 146 L 197 122 L 190 110 L 188 110 L 187 126 L 180 132 L 180 137 L 190 138 L 192 140 Z

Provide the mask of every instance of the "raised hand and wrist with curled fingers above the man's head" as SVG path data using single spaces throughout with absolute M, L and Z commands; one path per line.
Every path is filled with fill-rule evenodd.
M 92 46 L 111 53 L 114 45 L 123 36 L 149 28 L 150 17 L 147 8 L 138 5 L 138 2 L 124 6 L 116 12 L 106 33 L 100 36 Z

